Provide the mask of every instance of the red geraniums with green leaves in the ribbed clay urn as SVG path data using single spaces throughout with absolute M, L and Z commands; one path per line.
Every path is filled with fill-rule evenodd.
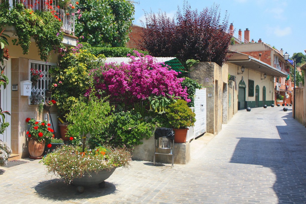
M 39 142 L 45 140 L 46 144 L 51 143 L 51 138 L 54 137 L 54 130 L 50 128 L 51 124 L 47 121 L 38 122 L 33 118 L 25 120 L 29 125 L 32 125 L 29 131 L 26 132 L 28 138 L 36 138 Z

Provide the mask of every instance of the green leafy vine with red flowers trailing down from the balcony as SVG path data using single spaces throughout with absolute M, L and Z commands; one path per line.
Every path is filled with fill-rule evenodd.
M 16 4 L 9 11 L 9 1 L 5 1 L 0 7 L 0 25 L 6 24 L 16 28 L 16 36 L 13 45 L 20 45 L 23 54 L 28 54 L 31 37 L 38 47 L 40 58 L 47 61 L 48 55 L 54 48 L 60 47 L 63 33 L 60 31 L 62 21 L 56 16 L 54 10 L 33 11 L 25 9 L 23 4 Z

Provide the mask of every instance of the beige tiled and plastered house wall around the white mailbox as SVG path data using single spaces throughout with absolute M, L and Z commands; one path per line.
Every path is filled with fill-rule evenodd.
M 11 41 L 9 41 L 11 42 Z M 18 91 L 11 91 L 11 148 L 13 154 L 18 154 L 19 158 L 28 157 L 28 139 L 26 138 L 27 117 L 42 120 L 38 117 L 38 105 L 29 105 L 29 97 L 20 95 L 20 82 L 30 80 L 29 78 L 29 59 L 42 61 L 38 54 L 38 48 L 32 42 L 27 55 L 22 54 L 20 46 L 10 43 L 9 56 L 11 60 L 11 80 L 8 88 L 12 89 L 12 84 L 18 84 Z M 58 57 L 56 54 L 50 54 L 48 62 L 57 63 Z M 56 113 L 55 107 L 50 109 L 51 113 Z M 43 111 L 42 116 L 46 113 Z M 57 124 L 56 122 L 54 122 Z M 17 159 L 16 157 L 15 159 Z

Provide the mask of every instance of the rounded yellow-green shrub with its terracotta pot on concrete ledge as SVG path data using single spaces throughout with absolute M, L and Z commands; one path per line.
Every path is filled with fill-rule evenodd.
M 169 126 L 174 130 L 174 142 L 185 143 L 189 126 L 196 122 L 196 114 L 187 106 L 187 102 L 178 99 L 177 102 L 167 106 L 166 118 Z

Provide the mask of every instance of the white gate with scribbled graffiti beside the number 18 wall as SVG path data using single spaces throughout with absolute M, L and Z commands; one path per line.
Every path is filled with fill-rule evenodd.
M 195 137 L 206 132 L 206 88 L 196 89 L 194 100 L 194 112 L 196 113 L 196 122 L 194 124 Z

